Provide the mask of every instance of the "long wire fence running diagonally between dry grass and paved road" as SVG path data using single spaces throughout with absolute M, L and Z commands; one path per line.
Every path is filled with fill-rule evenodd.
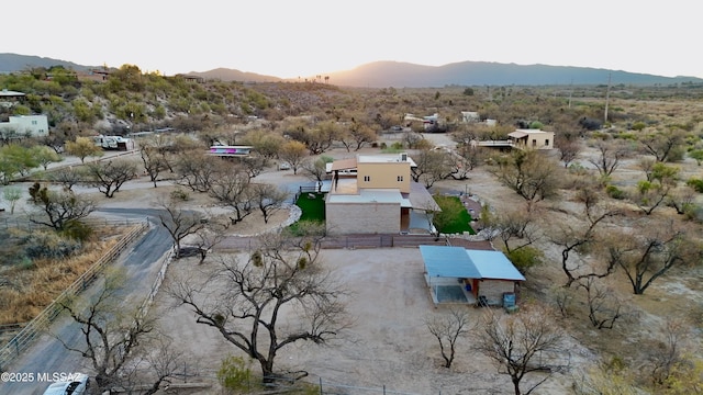
M 8 366 L 22 351 L 26 350 L 32 342 L 37 339 L 54 321 L 63 311 L 60 303 L 69 301 L 72 296 L 85 291 L 98 278 L 98 274 L 134 240 L 144 234 L 148 228 L 148 223 L 143 221 L 135 225 L 116 245 L 105 255 L 96 261 L 82 275 L 80 275 L 70 286 L 58 295 L 42 313 L 32 319 L 20 332 L 18 332 L 7 345 L 0 348 L 0 371 L 4 372 Z

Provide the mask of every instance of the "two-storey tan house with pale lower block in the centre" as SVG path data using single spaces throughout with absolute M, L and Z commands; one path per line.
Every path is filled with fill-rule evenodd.
M 325 201 L 327 232 L 433 233 L 432 212 L 439 206 L 422 184 L 412 181 L 414 166 L 406 154 L 358 155 L 332 162 Z

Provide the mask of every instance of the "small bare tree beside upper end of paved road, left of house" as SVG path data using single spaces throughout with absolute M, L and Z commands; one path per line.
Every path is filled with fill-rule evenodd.
M 166 200 L 159 196 L 156 204 L 161 208 L 158 214 L 159 223 L 171 236 L 174 258 L 178 259 L 181 255 L 181 241 L 205 227 L 205 215 L 198 211 L 183 210 L 182 202 L 174 198 Z

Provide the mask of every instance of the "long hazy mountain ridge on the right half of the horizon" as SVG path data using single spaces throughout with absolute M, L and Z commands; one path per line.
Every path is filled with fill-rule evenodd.
M 613 84 L 670 84 L 703 82 L 695 77 L 661 77 L 588 67 L 515 65 L 461 61 L 445 66 L 422 66 L 398 61 L 376 61 L 353 70 L 332 72 L 330 83 L 343 87 L 427 88 L 457 86 L 603 84 L 609 75 Z

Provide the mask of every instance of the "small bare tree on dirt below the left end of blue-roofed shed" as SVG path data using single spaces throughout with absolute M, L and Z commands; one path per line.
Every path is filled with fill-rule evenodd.
M 444 359 L 444 366 L 451 368 L 459 339 L 469 334 L 469 314 L 466 311 L 451 308 L 448 314 L 434 314 L 425 317 L 427 330 L 439 342 L 439 351 Z

